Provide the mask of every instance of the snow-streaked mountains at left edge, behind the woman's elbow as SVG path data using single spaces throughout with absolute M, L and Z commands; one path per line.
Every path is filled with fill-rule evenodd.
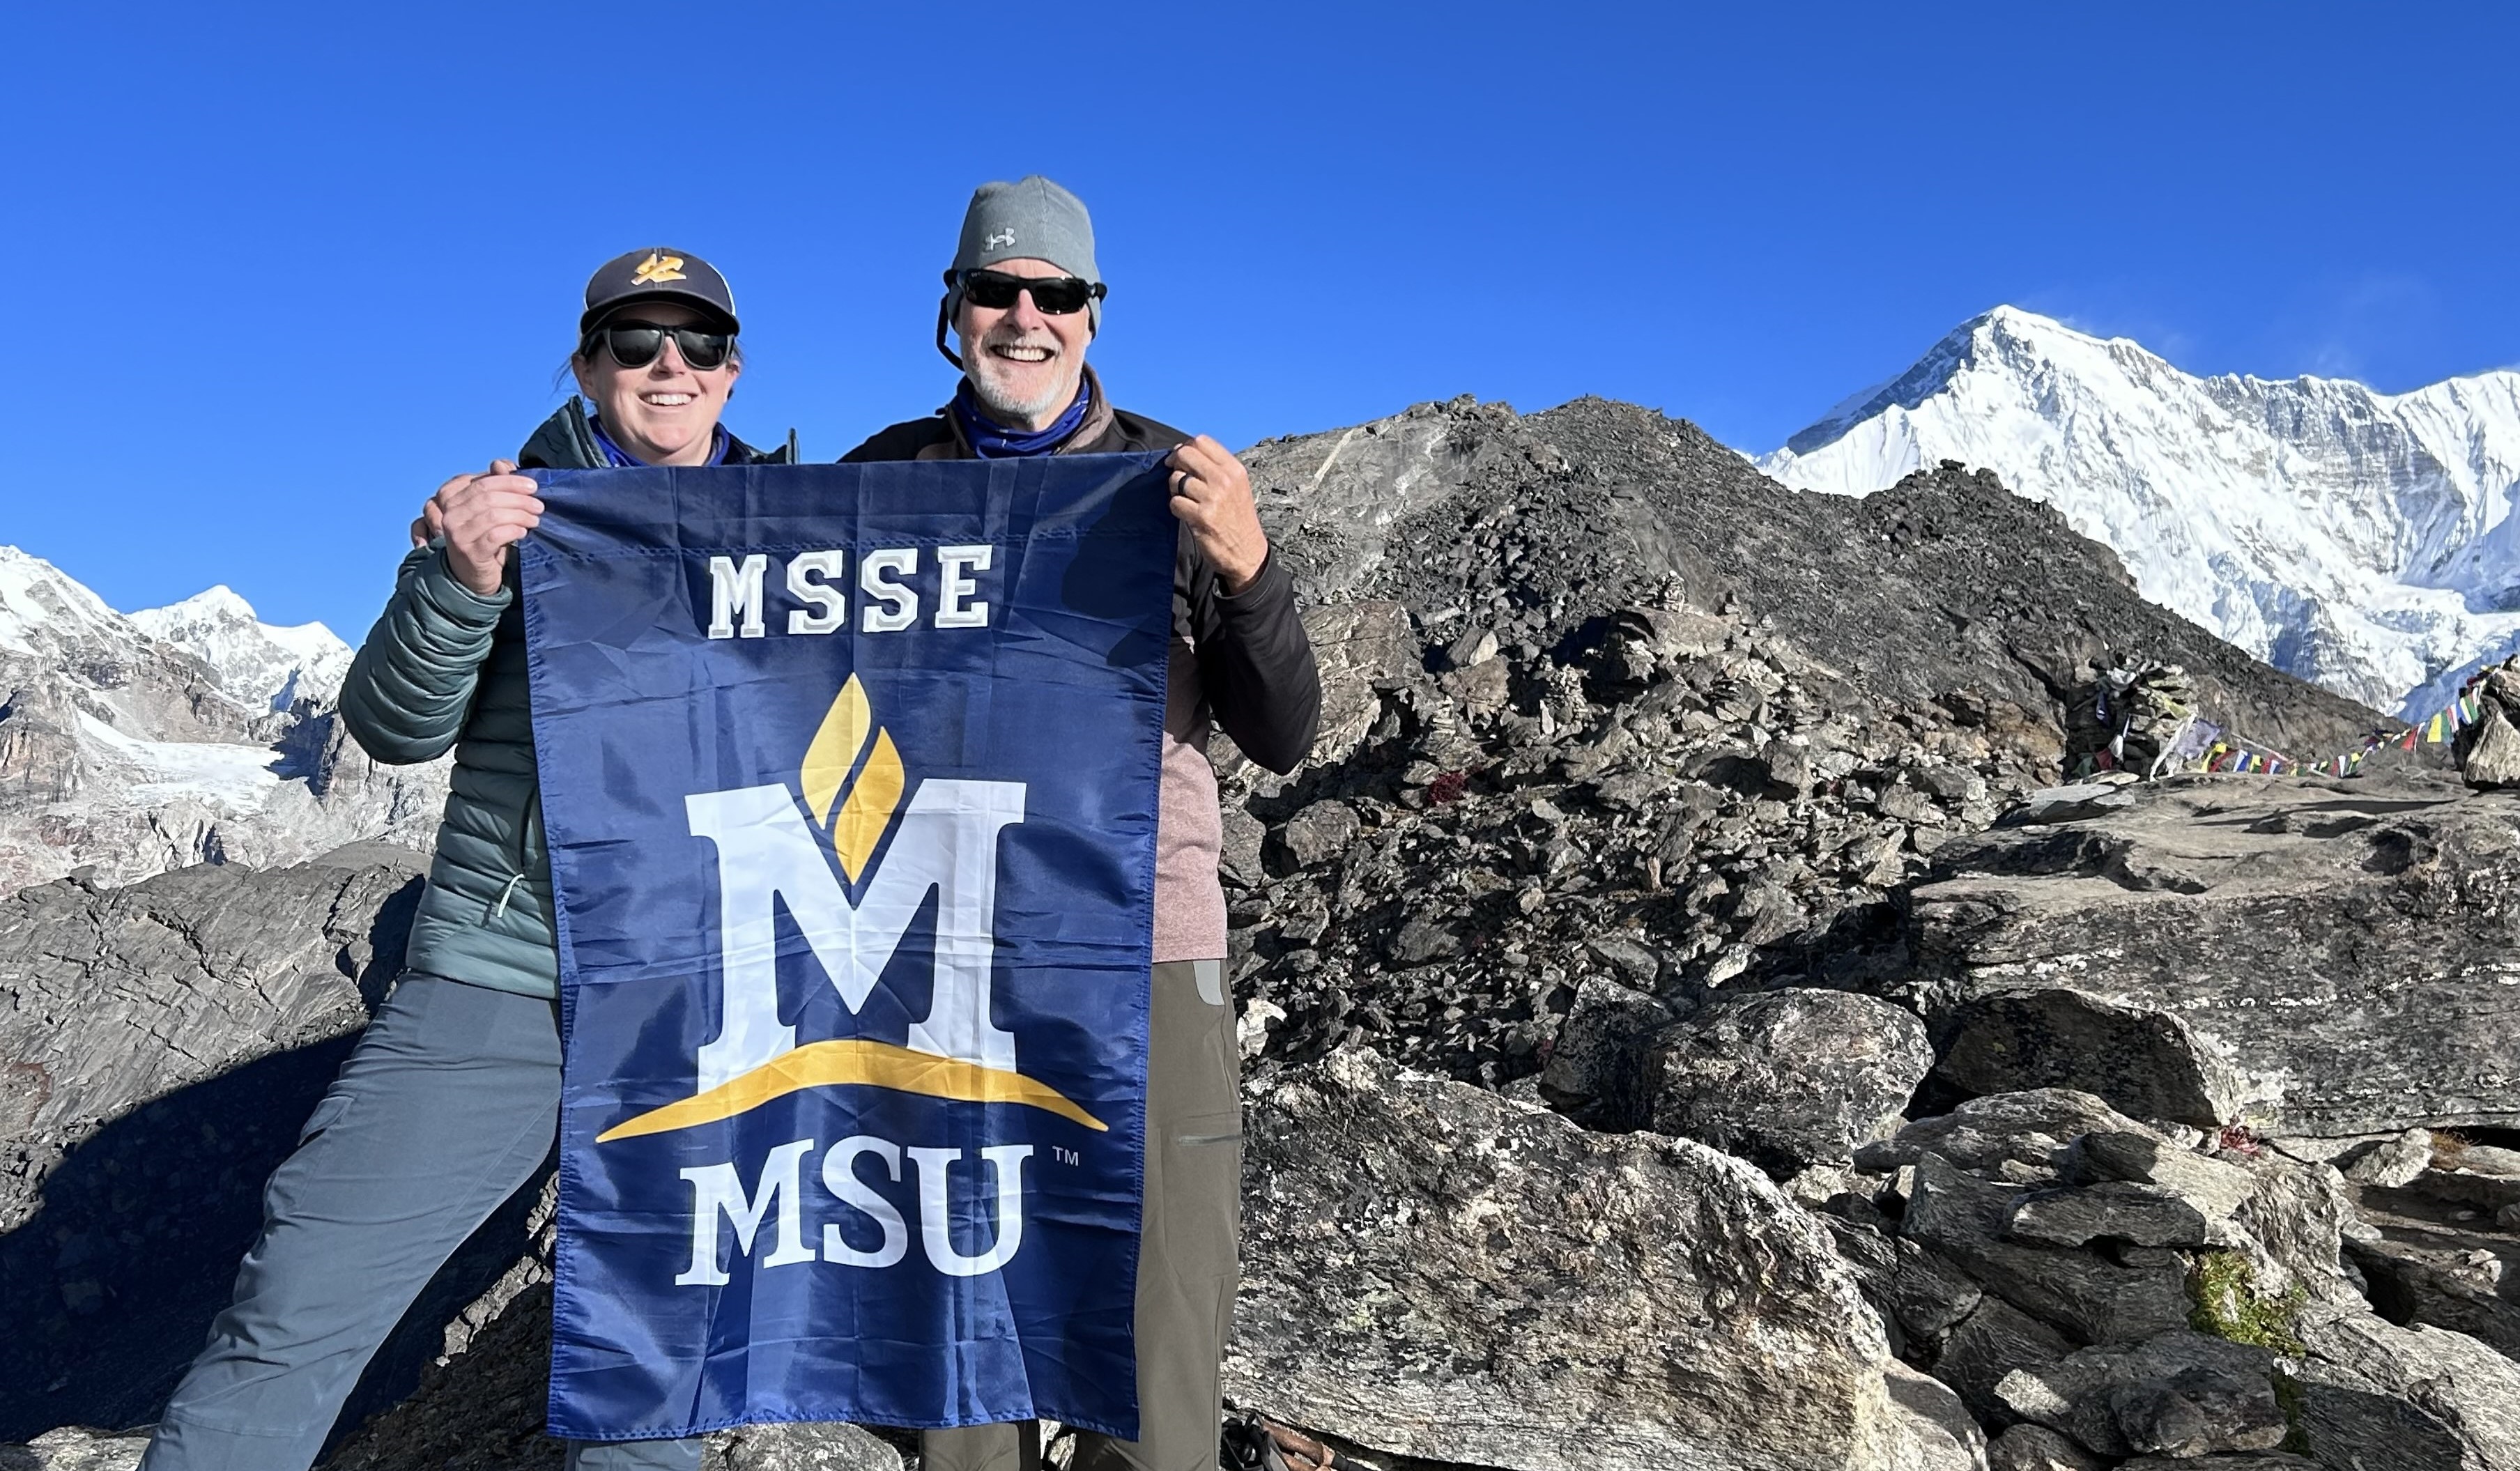
M 224 587 L 126 617 L 0 547 L 0 894 L 428 841 L 444 768 L 368 763 L 333 713 L 348 665 Z

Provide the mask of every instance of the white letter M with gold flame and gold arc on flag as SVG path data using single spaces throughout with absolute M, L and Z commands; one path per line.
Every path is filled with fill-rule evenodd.
M 708 839 L 718 859 L 718 1030 L 701 1045 L 690 1098 L 625 1118 L 597 1144 L 716 1123 L 801 1088 L 832 1086 L 1026 1103 L 1106 1128 L 1056 1088 L 1026 1078 L 1016 1068 L 1016 1038 L 990 1018 L 998 834 L 1023 821 L 1023 783 L 927 778 L 907 804 L 905 791 L 902 753 L 874 723 L 864 685 L 849 675 L 806 746 L 796 788 L 743 786 L 683 798 L 690 834 Z M 849 889 L 857 889 L 854 902 Z M 779 1020 L 776 907 L 786 904 L 842 1005 L 857 1015 L 930 894 L 937 907 L 927 1018 L 910 1023 L 902 1043 L 799 1045 L 794 1023 Z

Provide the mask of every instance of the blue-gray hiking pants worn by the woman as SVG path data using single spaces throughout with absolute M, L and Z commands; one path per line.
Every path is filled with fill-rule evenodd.
M 428 1277 L 559 1131 L 547 1000 L 403 975 L 297 1151 L 144 1471 L 305 1471 Z M 698 1471 L 701 1441 L 570 1443 L 575 1471 Z

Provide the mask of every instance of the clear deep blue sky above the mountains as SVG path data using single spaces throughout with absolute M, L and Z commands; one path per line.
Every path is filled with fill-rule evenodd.
M 20 5 L 0 542 L 353 642 L 673 242 L 728 423 L 930 411 L 973 184 L 1094 207 L 1114 395 L 1242 446 L 1580 393 L 1774 448 L 2016 302 L 2190 370 L 2520 360 L 2520 10 Z

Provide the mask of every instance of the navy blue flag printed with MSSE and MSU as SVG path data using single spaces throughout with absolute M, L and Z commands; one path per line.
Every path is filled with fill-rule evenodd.
M 1137 1438 L 1157 458 L 539 481 L 552 1433 Z

